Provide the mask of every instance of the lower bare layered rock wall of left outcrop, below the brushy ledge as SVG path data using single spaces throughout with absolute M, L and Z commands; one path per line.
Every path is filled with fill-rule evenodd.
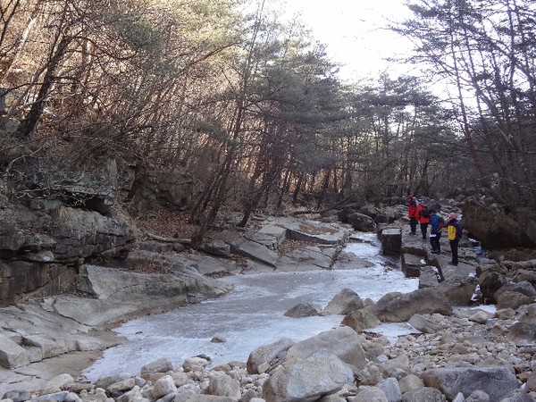
M 27 295 L 71 292 L 88 257 L 120 252 L 133 240 L 126 222 L 96 211 L 60 202 L 32 209 L 13 205 L 2 195 L 0 205 L 0 306 Z

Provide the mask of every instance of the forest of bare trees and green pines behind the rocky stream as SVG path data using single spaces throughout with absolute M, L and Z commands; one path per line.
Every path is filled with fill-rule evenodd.
M 422 73 L 351 84 L 274 1 L 0 4 L 0 177 L 25 158 L 88 172 L 121 160 L 138 185 L 188 178 L 202 230 L 228 207 L 246 225 L 304 199 L 536 207 L 532 0 L 411 0 L 412 17 L 386 27 L 411 39 L 405 62 Z

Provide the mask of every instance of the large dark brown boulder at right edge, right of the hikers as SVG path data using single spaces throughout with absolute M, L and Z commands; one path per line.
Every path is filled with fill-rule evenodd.
M 513 211 L 506 214 L 498 208 L 490 208 L 469 200 L 463 205 L 463 227 L 470 236 L 478 239 L 486 248 L 533 247 L 534 222 L 531 211 Z M 531 237 L 529 236 L 531 234 Z

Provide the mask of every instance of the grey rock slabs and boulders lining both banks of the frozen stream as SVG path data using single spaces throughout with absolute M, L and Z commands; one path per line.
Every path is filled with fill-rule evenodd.
M 354 229 L 340 222 L 271 218 L 255 230 L 222 231 L 204 252 L 147 240 L 114 264 L 80 264 L 80 294 L 21 300 L 0 309 L 0 397 L 34 401 L 535 401 L 536 275 L 532 262 L 495 261 L 464 239 L 460 264 L 448 265 L 442 239 L 432 254 L 406 222 L 379 224 L 389 254 L 401 255 L 419 289 L 377 302 L 341 289 L 321 310 L 339 327 L 302 341 L 280 339 L 251 351 L 247 362 L 210 365 L 192 356 L 180 366 L 148 362 L 136 376 L 80 381 L 80 369 L 121 341 L 113 324 L 139 314 L 219 297 L 222 274 L 331 269 Z M 150 270 L 157 264 L 158 272 Z M 348 263 L 349 264 L 349 263 Z M 165 269 L 164 269 L 165 268 Z M 151 271 L 151 272 L 147 272 Z M 483 304 L 493 305 L 493 308 Z M 471 308 L 469 308 L 471 307 Z M 309 313 L 304 313 L 309 312 Z M 381 322 L 408 322 L 415 333 L 396 342 L 374 332 Z M 74 363 L 73 363 L 74 362 Z

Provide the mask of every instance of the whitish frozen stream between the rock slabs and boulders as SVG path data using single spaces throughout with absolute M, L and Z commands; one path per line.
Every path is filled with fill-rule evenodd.
M 140 368 L 160 357 L 174 365 L 185 358 L 205 354 L 211 365 L 233 360 L 247 361 L 255 348 L 288 337 L 301 340 L 337 327 L 341 315 L 289 318 L 283 314 L 301 302 L 325 306 L 343 288 L 349 288 L 374 301 L 390 291 L 417 289 L 418 280 L 406 279 L 398 261 L 380 255 L 374 234 L 361 234 L 361 243 L 350 243 L 345 251 L 353 253 L 353 269 L 318 270 L 233 275 L 222 281 L 232 283 L 228 296 L 185 306 L 165 314 L 151 315 L 127 322 L 115 331 L 128 340 L 105 351 L 104 356 L 84 373 L 89 381 L 114 373 L 138 375 Z M 364 268 L 366 260 L 372 267 Z M 398 269 L 386 269 L 385 263 Z M 370 265 L 370 264 L 368 264 Z M 404 331 L 396 326 L 384 331 Z M 389 334 L 387 334 L 389 335 Z M 224 343 L 211 339 L 220 336 Z

